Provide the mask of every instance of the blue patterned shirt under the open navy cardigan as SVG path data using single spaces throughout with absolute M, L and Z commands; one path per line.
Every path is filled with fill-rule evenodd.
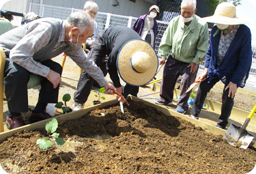
M 223 35 L 223 31 L 221 31 L 221 38 L 220 38 L 220 43 L 218 44 L 218 55 L 217 55 L 217 61 L 216 64 L 217 66 L 220 65 L 223 57 L 227 53 L 227 49 L 229 48 L 233 38 L 235 38 L 236 31 L 238 31 L 238 28 L 240 25 L 234 25 L 233 29 L 231 30 L 231 35 Z

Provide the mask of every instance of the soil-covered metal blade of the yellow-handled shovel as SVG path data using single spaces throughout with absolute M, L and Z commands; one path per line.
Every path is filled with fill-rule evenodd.
M 241 127 L 239 126 L 231 124 L 226 134 L 223 136 L 223 139 L 227 140 L 229 145 L 240 147 L 242 149 L 247 149 L 247 147 L 253 141 L 254 136 L 248 133 L 246 130 L 244 130 L 244 132 L 242 132 L 241 136 L 239 137 L 238 141 L 236 141 L 236 139 L 238 138 L 240 128 Z

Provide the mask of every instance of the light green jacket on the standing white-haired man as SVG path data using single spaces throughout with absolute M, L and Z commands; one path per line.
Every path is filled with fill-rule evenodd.
M 180 16 L 173 18 L 167 27 L 158 48 L 158 54 L 171 56 L 185 63 L 200 63 L 208 50 L 208 25 L 194 15 L 190 25 L 184 25 Z

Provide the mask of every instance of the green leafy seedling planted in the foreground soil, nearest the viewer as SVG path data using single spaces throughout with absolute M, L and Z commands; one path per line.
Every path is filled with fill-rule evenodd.
M 66 141 L 64 141 L 62 138 L 59 138 L 59 134 L 55 132 L 57 128 L 57 119 L 51 119 L 51 121 L 46 124 L 45 130 L 47 131 L 48 139 L 42 138 L 36 141 L 36 144 L 39 145 L 41 150 L 47 149 L 48 147 L 51 147 L 53 145 L 52 141 L 50 141 L 51 136 L 55 137 L 55 142 L 57 143 L 57 145 L 63 145 L 64 143 L 66 143 Z

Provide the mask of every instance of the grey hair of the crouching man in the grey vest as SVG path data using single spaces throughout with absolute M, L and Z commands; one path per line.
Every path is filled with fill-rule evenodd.
M 68 16 L 68 25 L 79 28 L 79 34 L 83 34 L 89 26 L 94 26 L 94 20 L 86 12 L 74 12 Z

